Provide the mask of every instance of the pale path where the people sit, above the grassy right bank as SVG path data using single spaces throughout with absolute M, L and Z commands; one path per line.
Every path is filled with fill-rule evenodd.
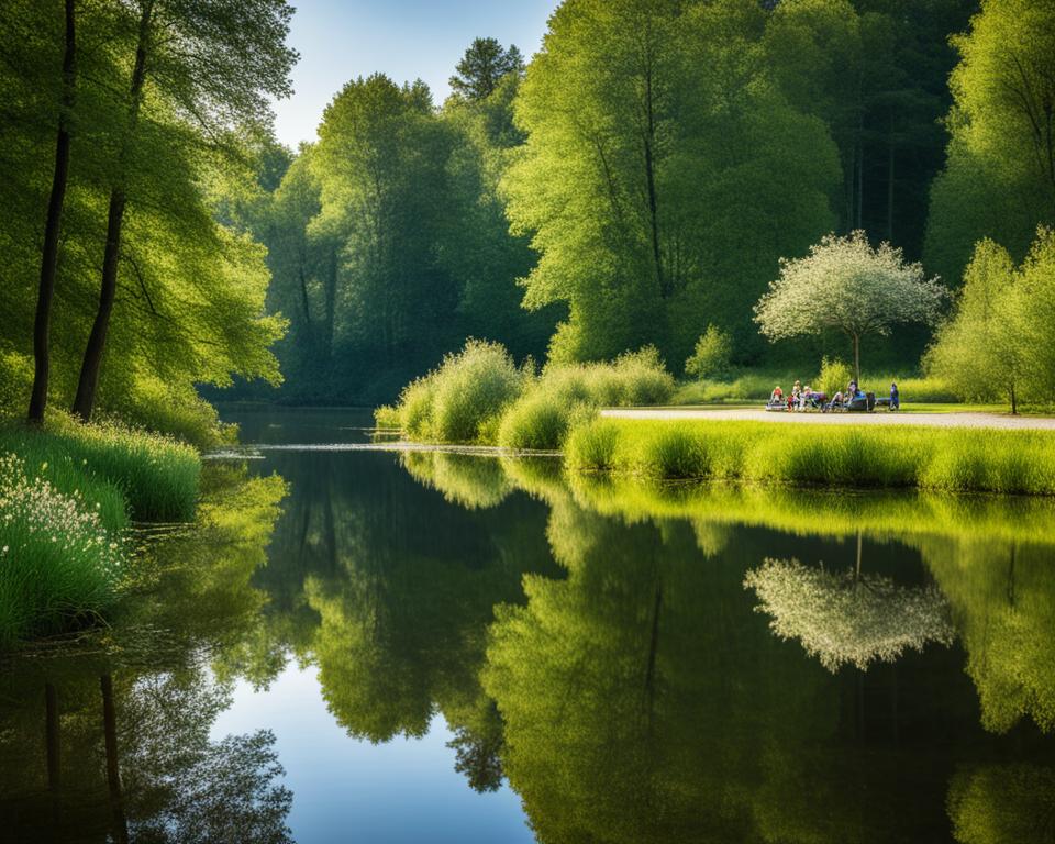
M 993 427 L 1011 431 L 1055 431 L 1055 418 L 1012 417 L 976 411 L 951 413 L 768 413 L 755 408 L 634 408 L 602 410 L 606 419 L 751 420 L 775 425 L 924 425 L 928 427 Z

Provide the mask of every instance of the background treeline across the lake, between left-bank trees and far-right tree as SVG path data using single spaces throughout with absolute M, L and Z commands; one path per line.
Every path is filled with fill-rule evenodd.
M 758 363 L 752 306 L 781 256 L 830 231 L 864 229 L 955 280 L 976 232 L 925 233 L 948 38 L 977 11 L 568 0 L 526 67 L 477 40 L 441 108 L 421 82 L 349 82 L 242 209 L 290 320 L 285 397 L 389 399 L 468 336 L 536 360 L 655 344 L 677 369 L 715 324 Z

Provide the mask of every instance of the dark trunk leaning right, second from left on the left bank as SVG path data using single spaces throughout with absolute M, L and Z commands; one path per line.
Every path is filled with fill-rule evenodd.
M 118 184 L 110 191 L 110 209 L 107 214 L 107 247 L 102 257 L 102 284 L 99 290 L 99 309 L 96 321 L 88 335 L 88 345 L 85 348 L 85 358 L 80 366 L 80 377 L 77 381 L 77 397 L 74 399 L 74 413 L 85 422 L 91 419 L 96 406 L 96 389 L 99 386 L 99 371 L 102 368 L 102 354 L 107 347 L 107 333 L 110 330 L 110 314 L 113 311 L 113 300 L 118 292 L 118 263 L 121 258 L 121 231 L 124 225 L 124 209 L 127 198 L 122 181 L 124 174 L 124 157 L 127 144 L 135 134 L 136 122 L 140 116 L 140 104 L 143 99 L 143 82 L 146 78 L 147 41 L 151 35 L 151 18 L 154 11 L 153 0 L 143 4 L 140 16 L 140 33 L 135 47 L 135 66 L 132 68 L 132 86 L 129 91 L 129 127 L 124 138 L 121 159 L 118 168 Z

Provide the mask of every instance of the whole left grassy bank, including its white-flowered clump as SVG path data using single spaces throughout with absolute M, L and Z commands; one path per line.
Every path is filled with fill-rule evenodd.
M 200 466 L 189 446 L 115 425 L 0 427 L 0 646 L 98 618 L 131 521 L 192 519 Z

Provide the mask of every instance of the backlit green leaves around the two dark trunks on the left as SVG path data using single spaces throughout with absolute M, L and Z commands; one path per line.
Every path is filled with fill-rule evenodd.
M 147 8 L 153 16 L 144 18 Z M 3 347 L 19 356 L 32 348 L 41 226 L 55 162 L 64 42 L 57 11 L 22 0 L 0 11 L 0 245 L 10 269 L 0 308 Z M 281 0 L 77 4 L 82 49 L 68 110 L 71 164 L 52 307 L 53 404 L 74 398 L 100 301 L 114 191 L 126 214 L 99 407 L 134 406 L 145 411 L 132 413 L 135 420 L 149 425 L 156 385 L 166 384 L 169 402 L 158 415 L 178 402 L 175 413 L 185 418 L 159 419 L 158 426 L 203 442 L 215 432 L 203 430 L 193 385 L 225 386 L 233 376 L 280 380 L 269 346 L 285 323 L 264 314 L 264 249 L 231 221 L 218 222 L 213 200 L 219 182 L 245 175 L 248 138 L 267 122 L 268 96 L 289 91 L 295 54 L 284 38 L 290 14 Z M 148 43 L 136 100 L 130 77 L 141 34 Z M 21 414 L 27 397 L 0 400 L 5 412 Z M 186 417 L 198 417 L 193 432 L 186 431 Z

